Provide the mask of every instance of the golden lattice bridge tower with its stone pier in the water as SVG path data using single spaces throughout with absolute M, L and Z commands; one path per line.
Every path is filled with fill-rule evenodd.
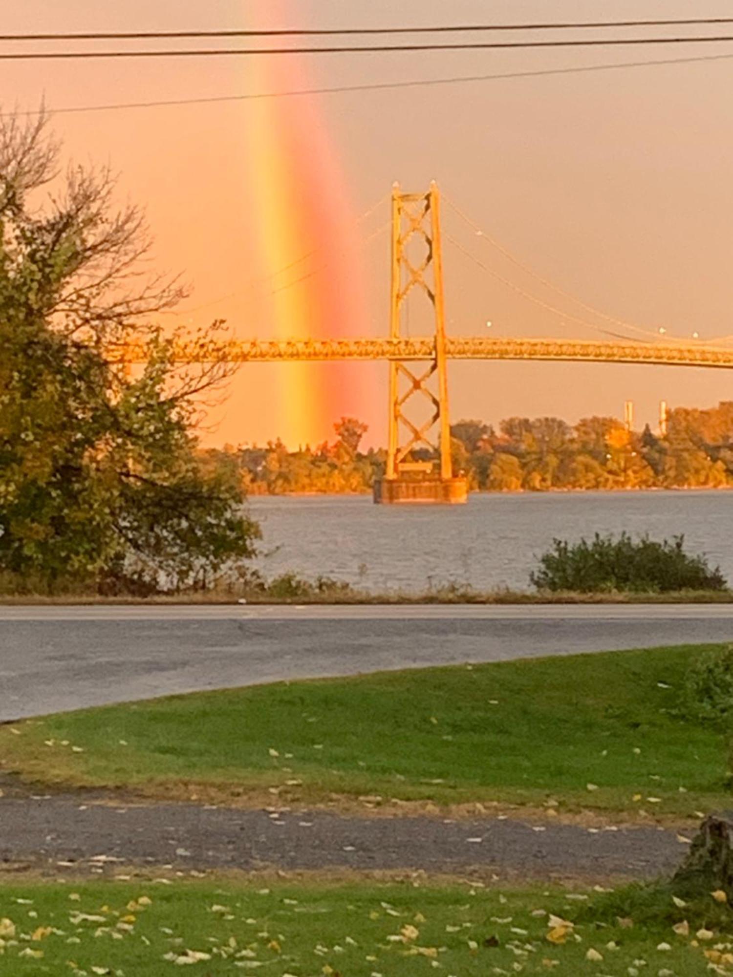
M 428 303 L 432 357 L 426 368 L 390 359 L 387 470 L 374 486 L 374 501 L 462 503 L 467 484 L 453 473 L 451 458 L 440 191 L 435 182 L 427 193 L 403 193 L 399 184 L 392 190 L 390 339 L 395 342 L 409 335 L 413 292 Z

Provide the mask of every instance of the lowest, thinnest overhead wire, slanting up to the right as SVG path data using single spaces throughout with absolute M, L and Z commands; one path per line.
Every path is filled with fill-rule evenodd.
M 120 102 L 106 106 L 61 106 L 59 108 L 33 108 L 21 112 L 0 112 L 0 118 L 15 115 L 68 114 L 71 112 L 102 112 L 123 108 L 159 108 L 170 106 L 216 105 L 226 102 L 250 102 L 260 99 L 296 98 L 307 95 L 336 95 L 349 92 L 392 91 L 401 88 L 426 88 L 439 85 L 456 85 L 482 81 L 501 81 L 511 78 L 541 78 L 551 75 L 584 74 L 589 71 L 616 71 L 622 68 L 659 67 L 665 64 L 700 64 L 704 62 L 730 61 L 733 55 L 699 55 L 691 58 L 666 58 L 656 61 L 616 62 L 614 64 L 579 64 L 574 67 L 539 68 L 535 71 L 503 71 L 495 74 L 455 75 L 449 78 L 414 78 L 409 81 L 367 82 L 363 85 L 335 85 L 324 88 L 297 88 L 282 92 L 249 92 L 242 95 L 215 95 L 197 99 L 161 99 L 153 102 Z

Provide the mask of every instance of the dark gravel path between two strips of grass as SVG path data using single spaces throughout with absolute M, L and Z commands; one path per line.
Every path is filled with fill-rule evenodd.
M 582 828 L 518 820 L 268 814 L 194 804 L 122 806 L 82 795 L 0 798 L 0 867 L 116 862 L 183 870 L 481 869 L 502 875 L 646 878 L 687 846 L 657 827 Z

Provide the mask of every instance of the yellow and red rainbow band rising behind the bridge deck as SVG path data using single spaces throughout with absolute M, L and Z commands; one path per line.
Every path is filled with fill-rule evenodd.
M 298 21 L 290 0 L 266 6 L 269 26 Z M 312 87 L 305 68 L 295 56 L 252 59 L 247 87 Z M 249 230 L 257 238 L 260 272 L 272 289 L 270 335 L 364 335 L 364 259 L 342 166 L 317 97 L 265 99 L 250 106 L 246 120 Z M 288 446 L 320 444 L 332 436 L 342 414 L 369 413 L 367 380 L 354 364 L 282 364 L 269 400 L 273 433 Z

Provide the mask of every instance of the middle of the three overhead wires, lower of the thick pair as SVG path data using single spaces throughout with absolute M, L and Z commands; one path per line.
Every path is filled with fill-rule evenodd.
M 298 48 L 171 48 L 153 51 L 16 51 L 0 53 L 0 61 L 100 61 L 120 58 L 251 58 L 262 55 L 405 54 L 417 51 L 524 51 L 543 48 L 594 48 L 668 44 L 721 44 L 733 34 L 695 37 L 613 37 L 562 41 L 471 41 L 460 44 L 369 44 Z

